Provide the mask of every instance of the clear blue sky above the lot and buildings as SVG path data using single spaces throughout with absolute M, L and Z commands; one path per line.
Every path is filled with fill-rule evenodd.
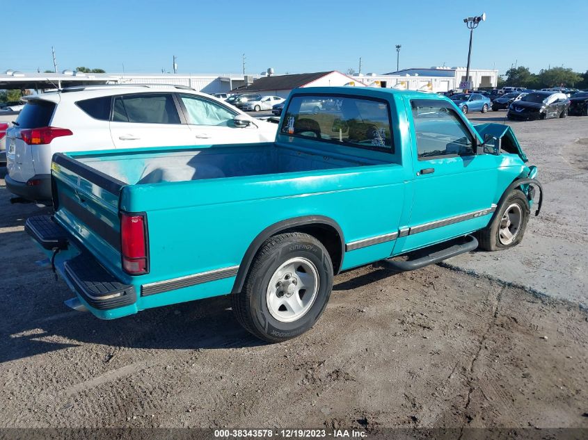
M 588 0 L 0 0 L 0 72 L 77 66 L 106 72 L 277 74 L 465 66 L 467 16 L 472 68 L 511 65 L 588 70 Z

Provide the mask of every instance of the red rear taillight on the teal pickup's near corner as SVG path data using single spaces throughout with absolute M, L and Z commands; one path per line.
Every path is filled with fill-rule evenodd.
M 120 214 L 122 269 L 130 275 L 149 272 L 147 222 L 145 214 Z

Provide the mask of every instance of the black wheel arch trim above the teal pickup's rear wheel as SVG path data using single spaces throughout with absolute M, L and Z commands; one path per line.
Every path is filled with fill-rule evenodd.
M 331 256 L 333 272 L 335 274 L 339 272 L 345 252 L 345 240 L 341 227 L 335 220 L 324 215 L 304 215 L 274 223 L 257 234 L 241 260 L 231 293 L 237 293 L 243 288 L 251 263 L 263 243 L 272 236 L 292 231 L 303 232 L 317 238 Z

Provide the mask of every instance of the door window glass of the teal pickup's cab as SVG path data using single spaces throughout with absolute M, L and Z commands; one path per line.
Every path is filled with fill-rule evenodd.
M 420 161 L 473 154 L 472 133 L 445 101 L 411 101 Z

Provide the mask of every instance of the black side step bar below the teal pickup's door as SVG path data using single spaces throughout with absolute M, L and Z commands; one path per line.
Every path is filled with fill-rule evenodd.
M 382 260 L 380 263 L 386 268 L 397 270 L 399 272 L 406 272 L 408 270 L 424 268 L 424 266 L 438 263 L 439 261 L 451 258 L 452 256 L 465 254 L 466 252 L 476 250 L 478 247 L 478 241 L 474 236 L 471 235 L 467 235 L 456 240 L 425 247 L 422 250 L 412 252 L 408 255 L 409 257 L 416 256 L 416 258 L 412 260 L 408 259 L 406 261 L 396 261 L 392 259 L 386 259 Z

